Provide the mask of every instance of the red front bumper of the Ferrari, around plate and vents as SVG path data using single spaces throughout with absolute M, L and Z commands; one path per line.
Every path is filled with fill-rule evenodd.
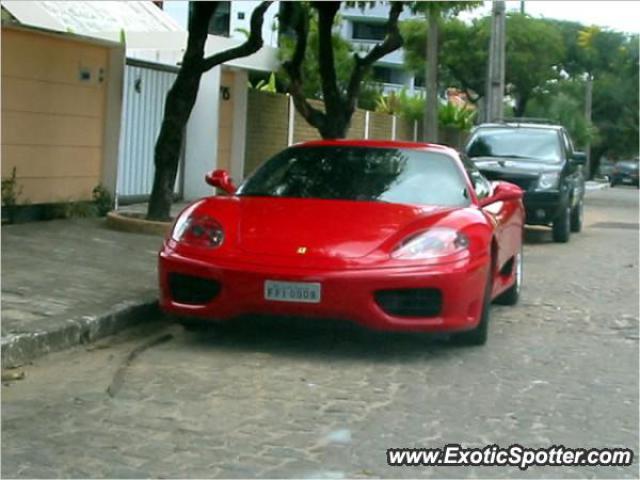
M 349 320 L 377 330 L 460 331 L 480 318 L 488 256 L 440 266 L 320 271 L 282 267 L 213 265 L 210 261 L 163 250 L 159 255 L 160 306 L 167 313 L 228 321 L 248 315 L 296 316 Z M 179 303 L 172 295 L 172 273 L 214 280 L 216 295 L 203 303 Z M 320 303 L 265 300 L 266 280 L 318 282 Z M 438 289 L 442 307 L 436 316 L 390 315 L 376 303 L 375 292 L 390 289 Z

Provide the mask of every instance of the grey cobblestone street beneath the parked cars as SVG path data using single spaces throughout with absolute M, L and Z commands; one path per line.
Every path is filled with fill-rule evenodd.
M 638 478 L 638 191 L 589 192 L 568 244 L 527 229 L 489 342 L 334 324 L 149 326 L 2 386 L 3 477 Z M 133 280 L 132 280 L 133 281 Z M 161 330 L 159 330 L 161 329 Z M 126 356 L 150 339 L 106 393 Z M 389 467 L 389 447 L 628 447 L 631 467 Z

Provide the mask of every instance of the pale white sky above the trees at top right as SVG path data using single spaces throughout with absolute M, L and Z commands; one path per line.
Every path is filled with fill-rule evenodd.
M 507 11 L 520 10 L 519 1 L 507 1 Z M 471 16 L 483 16 L 491 11 L 491 2 L 485 1 Z M 572 20 L 585 25 L 598 25 L 629 33 L 640 33 L 640 1 L 557 1 L 527 0 L 525 12 L 534 17 Z

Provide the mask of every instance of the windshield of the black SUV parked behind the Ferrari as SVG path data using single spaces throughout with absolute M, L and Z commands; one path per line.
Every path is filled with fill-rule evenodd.
M 526 158 L 546 163 L 560 161 L 560 142 L 555 130 L 541 128 L 484 128 L 467 145 L 469 158 Z

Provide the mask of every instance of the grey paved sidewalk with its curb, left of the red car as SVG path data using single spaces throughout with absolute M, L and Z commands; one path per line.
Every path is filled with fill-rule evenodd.
M 3 368 L 157 318 L 161 242 L 104 219 L 3 226 Z

